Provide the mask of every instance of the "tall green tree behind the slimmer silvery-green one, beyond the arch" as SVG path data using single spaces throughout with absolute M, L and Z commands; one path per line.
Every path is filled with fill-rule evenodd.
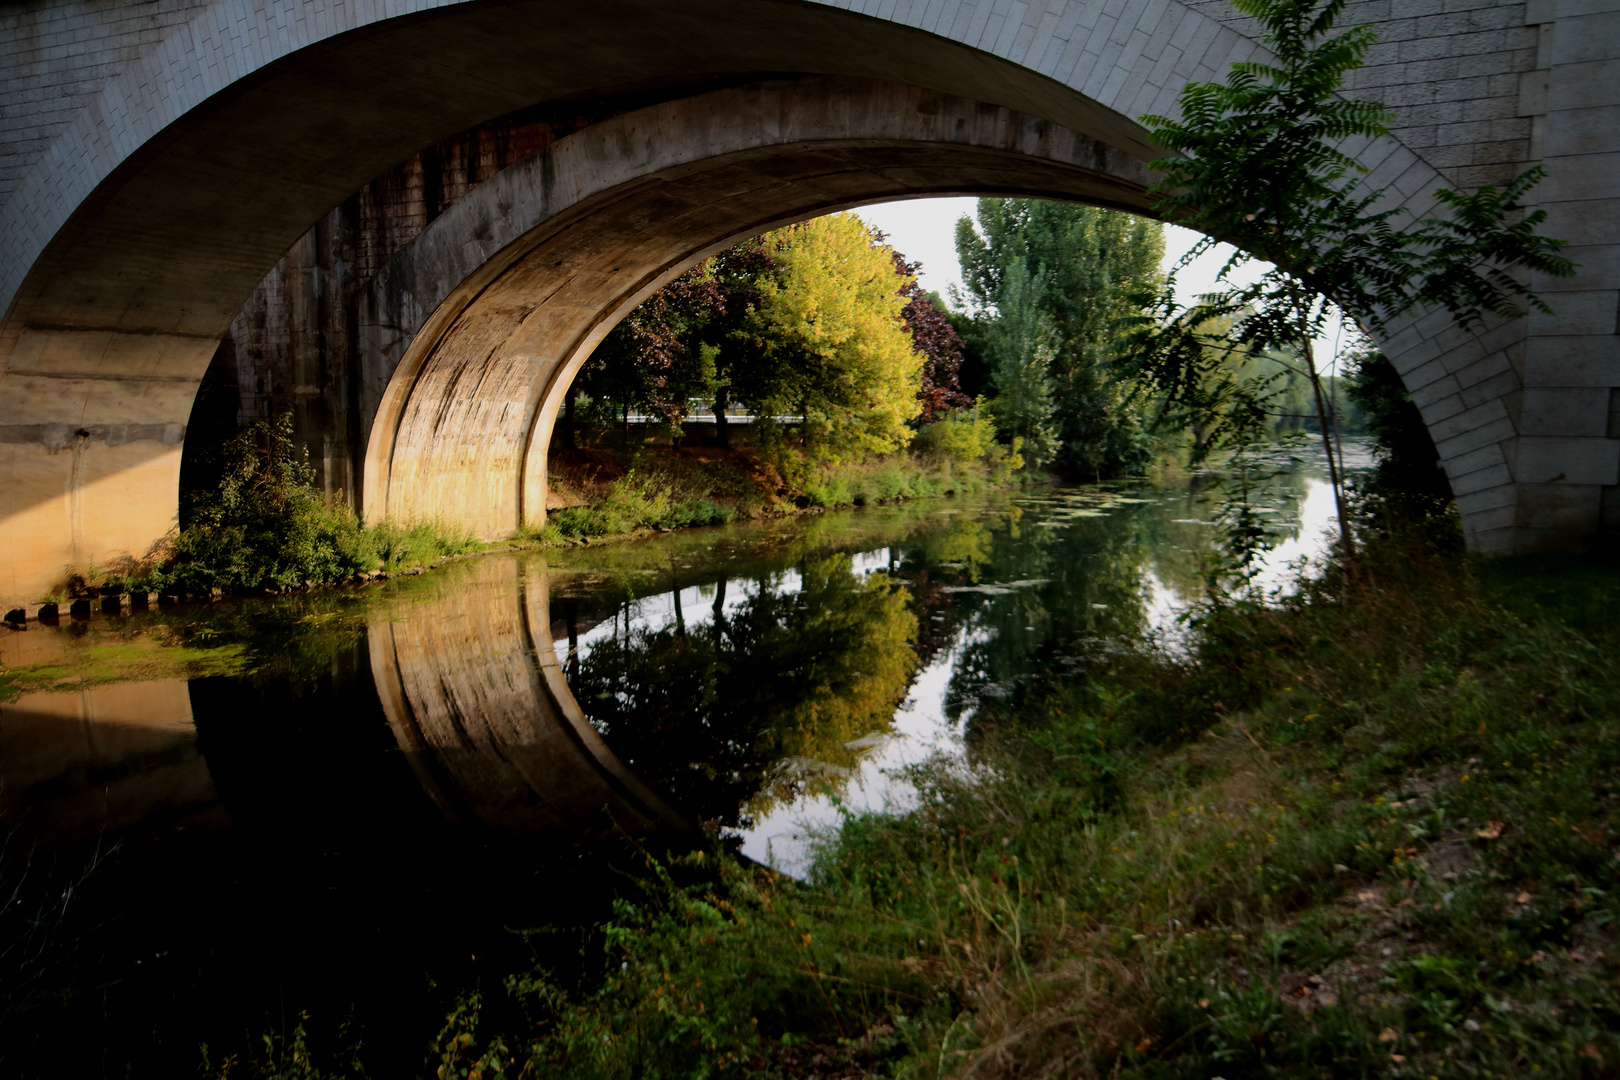
M 1008 317 L 1014 267 L 1022 266 L 1051 329 L 1045 376 L 1053 445 L 1043 457 L 1084 476 L 1137 471 L 1149 457 L 1147 424 L 1113 371 L 1113 324 L 1129 313 L 1129 290 L 1158 283 L 1162 227 L 1089 206 L 980 199 L 977 227 L 964 217 L 956 228 L 964 298 L 980 324 L 964 337 L 982 351 L 991 384 L 1006 363 L 1008 329 L 993 325 Z M 1000 358 L 991 355 L 996 337 Z

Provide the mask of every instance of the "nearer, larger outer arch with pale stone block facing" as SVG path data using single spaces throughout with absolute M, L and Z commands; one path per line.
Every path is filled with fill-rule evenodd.
M 1605 429 L 1620 199 L 1601 168 L 1612 142 L 1594 134 L 1620 108 L 1602 89 L 1620 60 L 1617 5 L 1482 3 L 1408 21 L 1351 5 L 1383 19 L 1393 50 L 1359 92 L 1403 105 L 1443 86 L 1458 105 L 1403 128 L 1411 146 L 1349 149 L 1418 214 L 1442 168 L 1468 183 L 1562 155 L 1573 180 L 1545 201 L 1588 241 L 1592 270 L 1552 321 L 1468 340 L 1419 321 L 1387 351 L 1477 549 L 1591 546 L 1604 507 L 1620 520 L 1620 440 Z M 650 104 L 791 73 L 988 102 L 1147 160 L 1136 117 L 1259 52 L 1252 28 L 1207 0 L 156 0 L 151 47 L 126 57 L 107 44 L 117 19 L 78 11 L 0 13 L 0 53 L 24 70 L 0 89 L 23 131 L 0 136 L 6 597 L 65 565 L 139 554 L 172 526 L 190 402 L 258 277 L 326 209 L 447 133 L 539 102 Z M 63 34 L 117 57 L 65 112 L 53 87 L 86 49 Z M 1414 79 L 1427 99 L 1408 92 Z

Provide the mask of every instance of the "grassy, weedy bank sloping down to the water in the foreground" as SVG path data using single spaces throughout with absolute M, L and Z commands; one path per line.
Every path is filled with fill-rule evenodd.
M 1369 538 L 987 704 L 808 882 L 650 858 L 586 984 L 486 988 L 426 1072 L 1614 1075 L 1617 604 Z

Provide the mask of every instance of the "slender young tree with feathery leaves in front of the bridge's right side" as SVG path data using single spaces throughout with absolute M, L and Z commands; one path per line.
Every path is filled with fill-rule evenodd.
M 1291 358 L 1312 387 L 1317 424 L 1338 500 L 1340 542 L 1351 554 L 1349 515 L 1335 429 L 1314 340 L 1336 313 L 1369 332 L 1422 308 L 1453 313 L 1466 330 L 1487 317 L 1545 311 L 1516 270 L 1573 274 L 1557 254 L 1562 241 L 1536 235 L 1544 210 L 1520 214 L 1518 199 L 1541 168 L 1503 188 L 1473 196 L 1435 193 L 1442 219 L 1396 228 L 1400 209 L 1379 209 L 1383 191 L 1354 178 L 1364 172 L 1341 149 L 1348 138 L 1388 133 L 1392 115 L 1375 102 L 1338 97 L 1345 73 L 1358 68 L 1374 42 L 1369 28 L 1333 31 L 1345 0 L 1233 0 L 1257 19 L 1275 63 L 1234 63 L 1225 83 L 1192 83 L 1179 97 L 1181 118 L 1144 117 L 1173 157 L 1153 162 L 1155 210 L 1196 228 L 1207 241 L 1183 266 L 1217 241 L 1238 253 L 1221 270 L 1220 291 L 1183 306 L 1174 274 L 1157 295 L 1137 293 L 1145 316 L 1124 319 L 1123 340 L 1142 379 L 1170 402 L 1196 405 L 1210 371 L 1200 327 L 1230 319 L 1230 337 L 1254 355 L 1277 350 Z M 1272 267 L 1251 285 L 1233 272 L 1252 261 Z M 1234 392 L 1243 393 L 1243 387 Z M 1262 395 L 1264 390 L 1254 390 Z

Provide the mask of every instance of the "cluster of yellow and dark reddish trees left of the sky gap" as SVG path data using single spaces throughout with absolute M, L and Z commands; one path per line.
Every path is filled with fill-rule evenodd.
M 957 387 L 962 342 L 917 264 L 850 214 L 816 219 L 727 248 L 661 288 L 598 345 L 570 389 L 624 418 L 646 408 L 671 427 L 693 398 L 726 410 L 805 413 L 823 455 L 893 450 L 917 416 L 970 405 Z M 909 389 L 907 389 L 909 387 Z M 909 393 L 909 397 L 907 397 Z

